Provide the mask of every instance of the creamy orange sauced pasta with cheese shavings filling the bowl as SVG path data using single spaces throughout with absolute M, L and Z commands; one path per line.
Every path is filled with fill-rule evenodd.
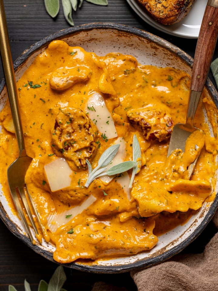
M 214 199 L 217 109 L 206 91 L 194 121 L 204 133 L 194 132 L 184 153 L 177 149 L 167 158 L 173 125 L 186 119 L 189 85 L 190 76 L 178 69 L 140 65 L 120 53 L 99 57 L 59 40 L 24 72 L 18 99 L 26 151 L 33 158 L 25 182 L 45 228 L 43 237 L 56 246 L 54 260 L 147 251 L 158 236 Z M 0 121 L 0 179 L 15 212 L 7 167 L 18 149 L 8 101 Z M 141 152 L 137 161 L 134 139 Z M 133 167 L 90 178 L 103 152 L 114 145 L 119 149 L 107 169 L 134 161 L 132 185 Z M 197 156 L 189 179 L 188 166 Z

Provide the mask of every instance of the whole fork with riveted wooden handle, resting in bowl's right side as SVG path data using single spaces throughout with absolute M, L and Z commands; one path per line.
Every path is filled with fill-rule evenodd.
M 186 123 L 174 125 L 167 156 L 170 156 L 175 149 L 181 149 L 184 152 L 190 134 L 195 130 L 200 130 L 193 126 L 193 119 L 210 69 L 217 35 L 218 0 L 209 0 L 204 12 L 194 55 Z M 189 178 L 196 161 L 197 158 L 188 167 Z

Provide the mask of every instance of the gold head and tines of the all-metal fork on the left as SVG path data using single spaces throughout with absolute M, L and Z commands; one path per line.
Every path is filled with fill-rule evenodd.
M 32 227 L 36 233 L 37 239 L 41 242 L 41 235 L 38 232 L 38 229 L 35 225 L 32 212 L 35 212 L 38 223 L 41 226 L 38 213 L 36 212 L 35 206 L 32 203 L 31 196 L 28 193 L 26 184 L 25 184 L 25 174 L 32 161 L 32 158 L 27 156 L 25 152 L 22 152 L 21 155 L 8 167 L 8 185 L 12 195 L 12 199 L 15 203 L 16 209 L 21 220 L 24 223 L 25 229 L 28 233 L 28 236 L 31 240 L 31 243 L 35 245 L 35 239 L 32 236 L 30 227 L 28 225 L 27 217 L 30 220 Z M 31 212 L 31 209 L 32 212 Z M 25 213 L 24 213 L 25 212 Z M 26 214 L 26 216 L 25 216 Z M 42 228 L 42 226 L 41 226 Z

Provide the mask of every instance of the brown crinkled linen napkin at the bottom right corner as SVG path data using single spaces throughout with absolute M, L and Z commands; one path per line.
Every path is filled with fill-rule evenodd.
M 218 228 L 218 210 L 213 222 Z M 203 253 L 182 254 L 143 269 L 132 271 L 138 291 L 218 291 L 218 232 Z M 103 282 L 94 284 L 92 291 L 122 291 Z

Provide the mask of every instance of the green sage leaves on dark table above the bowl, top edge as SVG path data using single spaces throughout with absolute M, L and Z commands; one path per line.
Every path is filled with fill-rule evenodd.
M 85 0 L 87 2 L 96 4 L 96 5 L 108 5 L 107 0 Z M 62 7 L 64 11 L 64 17 L 66 21 L 74 26 L 73 18 L 72 18 L 72 9 L 74 11 L 78 8 L 81 8 L 83 4 L 83 0 L 61 0 Z M 60 10 L 60 0 L 44 0 L 45 3 L 45 9 L 48 12 L 48 14 L 54 18 L 58 15 L 58 12 Z

